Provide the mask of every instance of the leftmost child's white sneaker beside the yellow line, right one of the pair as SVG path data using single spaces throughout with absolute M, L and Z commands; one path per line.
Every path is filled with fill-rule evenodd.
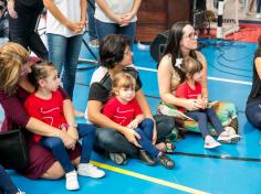
M 91 176 L 91 177 L 103 177 L 105 172 L 97 169 L 91 163 L 80 163 L 77 166 L 77 174 L 82 176 Z

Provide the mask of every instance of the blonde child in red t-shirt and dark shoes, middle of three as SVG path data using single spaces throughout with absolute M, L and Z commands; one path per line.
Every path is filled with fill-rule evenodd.
M 129 74 L 118 73 L 113 79 L 112 87 L 113 98 L 105 104 L 103 114 L 118 125 L 135 130 L 140 136 L 140 139 L 136 138 L 142 147 L 140 159 L 143 160 L 143 157 L 146 157 L 146 152 L 153 157 L 153 162 L 147 164 L 155 164 L 154 159 L 156 159 L 165 168 L 173 169 L 174 161 L 152 143 L 154 121 L 149 118 L 144 118 L 142 109 L 135 99 L 135 78 Z

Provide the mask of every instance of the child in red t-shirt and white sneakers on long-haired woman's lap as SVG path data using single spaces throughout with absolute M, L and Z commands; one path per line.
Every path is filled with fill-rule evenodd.
M 205 148 L 212 149 L 219 147 L 220 143 L 218 141 L 225 143 L 237 142 L 240 140 L 240 136 L 236 134 L 231 127 L 227 127 L 226 130 L 223 129 L 212 108 L 207 107 L 208 99 L 202 98 L 201 96 L 200 83 L 202 80 L 202 64 L 192 57 L 184 60 L 184 64 L 180 69 L 185 73 L 186 80 L 178 86 L 175 96 L 179 98 L 197 99 L 197 101 L 201 104 L 201 109 L 188 111 L 184 108 L 179 108 L 179 110 L 198 121 L 199 129 L 205 139 Z M 210 121 L 212 127 L 216 129 L 218 133 L 218 141 L 209 134 L 209 130 L 207 128 L 208 121 Z

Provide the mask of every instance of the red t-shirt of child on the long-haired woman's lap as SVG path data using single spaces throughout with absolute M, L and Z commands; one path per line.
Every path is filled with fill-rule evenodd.
M 175 96 L 178 98 L 186 98 L 186 99 L 197 99 L 199 95 L 202 93 L 202 87 L 200 83 L 195 83 L 195 88 L 191 88 L 187 82 L 180 84 L 176 91 Z M 185 108 L 178 108 L 179 111 L 185 112 Z

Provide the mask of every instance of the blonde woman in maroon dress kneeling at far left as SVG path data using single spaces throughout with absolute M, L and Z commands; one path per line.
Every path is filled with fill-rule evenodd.
M 66 132 L 53 128 L 33 117 L 29 117 L 23 108 L 23 103 L 35 89 L 27 76 L 31 65 L 29 53 L 21 45 L 9 42 L 0 47 L 0 104 L 3 107 L 6 116 L 1 130 L 7 131 L 12 129 L 12 127 L 25 128 L 28 131 L 40 136 L 59 137 L 65 147 L 72 148 L 75 144 L 75 140 Z M 62 88 L 60 88 L 60 91 L 65 98 L 64 108 L 73 110 L 72 101 L 67 94 Z M 21 173 L 30 179 L 62 177 L 64 171 L 61 164 L 49 150 L 32 141 L 31 132 L 25 133 L 29 147 L 29 166 Z M 81 148 L 79 144 L 69 153 L 70 159 L 75 165 L 80 162 L 80 153 Z

